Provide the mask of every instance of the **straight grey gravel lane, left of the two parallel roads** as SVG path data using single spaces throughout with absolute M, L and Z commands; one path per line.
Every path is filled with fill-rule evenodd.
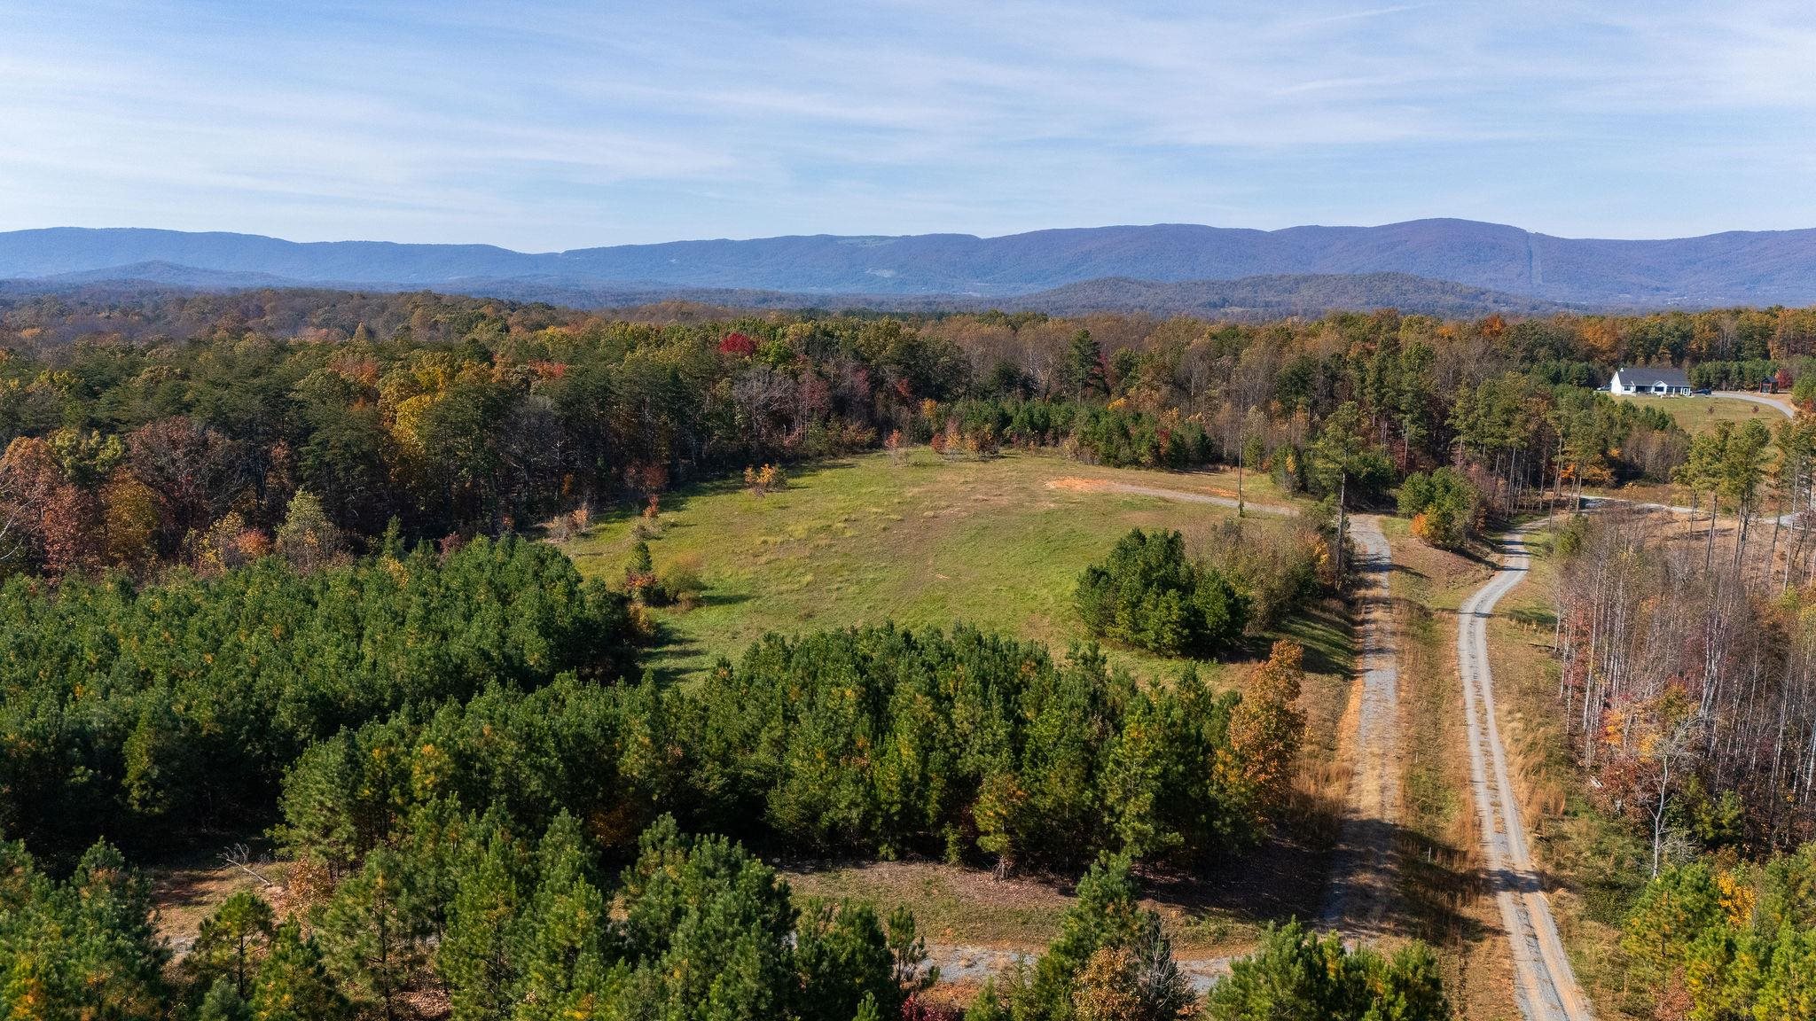
M 1349 794 L 1320 925 L 1349 937 L 1380 936 L 1393 896 L 1393 827 L 1400 816 L 1400 663 L 1387 576 L 1393 550 L 1373 516 L 1349 518 L 1362 580 L 1358 694 L 1346 714 Z

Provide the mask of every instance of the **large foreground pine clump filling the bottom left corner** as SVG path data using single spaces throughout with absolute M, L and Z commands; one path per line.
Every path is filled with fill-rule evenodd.
M 109 847 L 58 883 L 0 845 L 0 1010 L 352 1021 L 439 996 L 459 1021 L 883 1021 L 932 977 L 906 912 L 797 903 L 741 847 L 672 819 L 616 881 L 572 816 L 534 834 L 459 827 L 427 857 L 372 852 L 289 917 L 234 894 L 174 968 L 147 885 Z

